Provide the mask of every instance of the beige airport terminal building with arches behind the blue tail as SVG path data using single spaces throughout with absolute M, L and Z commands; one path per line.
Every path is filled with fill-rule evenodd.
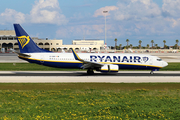
M 88 40 L 73 40 L 72 45 L 63 45 L 63 40 L 49 40 L 31 37 L 34 42 L 42 49 L 59 52 L 62 50 L 68 51 L 71 48 L 78 51 L 100 51 L 103 50 L 104 40 L 88 39 Z M 16 34 L 14 30 L 0 30 L 0 50 L 7 52 L 9 49 L 19 50 Z

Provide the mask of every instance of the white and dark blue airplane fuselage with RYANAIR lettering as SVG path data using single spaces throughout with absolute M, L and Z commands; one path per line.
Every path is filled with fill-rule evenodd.
M 57 68 L 81 68 L 83 63 L 75 60 L 72 53 L 25 53 L 31 57 L 19 58 L 30 63 L 37 63 Z M 118 65 L 119 69 L 147 69 L 158 70 L 167 66 L 165 61 L 151 55 L 125 53 L 78 53 L 82 60 Z

